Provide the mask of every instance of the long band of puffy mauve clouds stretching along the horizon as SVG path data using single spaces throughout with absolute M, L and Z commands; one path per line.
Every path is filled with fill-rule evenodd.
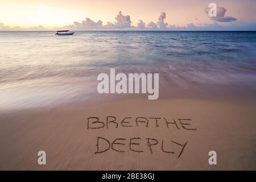
M 209 10 L 205 9 L 205 12 Z M 94 22 L 90 18 L 82 20 L 82 22 L 74 22 L 71 25 L 55 28 L 44 28 L 41 26 L 34 26 L 30 28 L 9 27 L 0 22 L 0 30 L 169 30 L 169 31 L 255 31 L 256 20 L 237 20 L 232 16 L 225 16 L 226 9 L 224 7 L 217 8 L 217 17 L 211 18 L 212 24 L 193 24 L 189 23 L 187 26 L 177 26 L 175 24 L 168 25 L 164 22 L 166 19 L 166 13 L 162 12 L 158 18 L 158 22 L 144 23 L 143 20 L 138 20 L 137 26 L 131 26 L 131 19 L 129 15 L 122 15 L 119 11 L 115 18 L 115 22 L 108 22 L 103 24 L 101 20 Z M 230 22 L 228 24 L 219 22 Z

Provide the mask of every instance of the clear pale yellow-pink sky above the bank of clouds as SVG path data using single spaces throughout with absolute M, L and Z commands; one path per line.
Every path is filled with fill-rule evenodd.
M 213 21 L 205 14 L 204 9 L 212 1 L 169 1 L 169 0 L 87 0 L 72 2 L 67 0 L 1 0 L 0 22 L 5 26 L 28 28 L 43 26 L 46 28 L 63 27 L 73 22 L 82 22 L 90 18 L 94 22 L 101 20 L 103 25 L 115 22 L 119 11 L 123 15 L 129 15 L 131 26 L 137 26 L 138 20 L 144 23 L 157 22 L 161 12 L 166 13 L 164 20 L 169 25 L 187 26 L 193 23 L 212 24 Z M 246 1 L 214 1 L 218 6 L 227 9 L 226 15 L 236 18 L 238 21 L 254 21 L 256 2 Z

